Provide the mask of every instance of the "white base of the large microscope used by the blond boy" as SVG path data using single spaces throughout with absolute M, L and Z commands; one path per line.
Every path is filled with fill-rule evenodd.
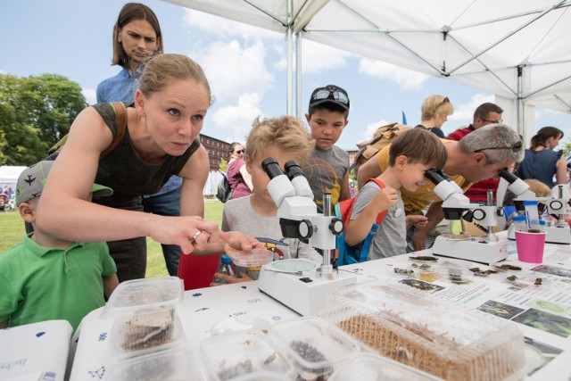
M 339 271 L 335 279 L 325 279 L 318 277 L 316 270 L 298 276 L 264 269 L 270 265 L 262 266 L 258 288 L 302 316 L 317 316 L 325 307 L 327 294 L 357 283 L 357 276 L 345 271 Z M 311 281 L 305 283 L 301 278 Z

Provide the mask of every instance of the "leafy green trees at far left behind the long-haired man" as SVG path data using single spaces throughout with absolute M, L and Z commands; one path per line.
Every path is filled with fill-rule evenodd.
M 46 157 L 47 149 L 69 132 L 71 122 L 87 107 L 81 87 L 57 74 L 0 74 L 0 104 L 0 161 L 15 165 Z

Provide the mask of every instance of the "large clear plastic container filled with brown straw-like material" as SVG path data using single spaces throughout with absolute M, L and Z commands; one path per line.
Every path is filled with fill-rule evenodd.
M 524 377 L 524 338 L 507 320 L 372 282 L 327 296 L 320 316 L 381 355 L 449 380 Z

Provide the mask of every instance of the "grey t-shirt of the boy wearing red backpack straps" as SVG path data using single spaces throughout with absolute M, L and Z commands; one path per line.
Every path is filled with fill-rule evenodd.
M 351 219 L 359 217 L 380 190 L 381 188 L 373 181 L 365 184 L 356 196 Z M 406 253 L 406 221 L 400 190 L 397 190 L 397 195 L 398 202 L 389 208 L 377 234 L 373 237 L 368 250 L 368 261 Z

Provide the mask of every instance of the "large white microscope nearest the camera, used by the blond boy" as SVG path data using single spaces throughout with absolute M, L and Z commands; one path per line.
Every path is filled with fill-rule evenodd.
M 331 195 L 324 194 L 323 214 L 317 212 L 313 192 L 295 161 L 285 163 L 285 173 L 273 157 L 261 163 L 269 176 L 268 192 L 277 205 L 282 234 L 299 238 L 323 255 L 320 267 L 313 261 L 291 259 L 270 262 L 261 268 L 258 288 L 301 315 L 317 315 L 327 294 L 357 282 L 350 272 L 340 272 L 331 264 L 335 236 L 343 232 L 343 221 L 331 216 Z

